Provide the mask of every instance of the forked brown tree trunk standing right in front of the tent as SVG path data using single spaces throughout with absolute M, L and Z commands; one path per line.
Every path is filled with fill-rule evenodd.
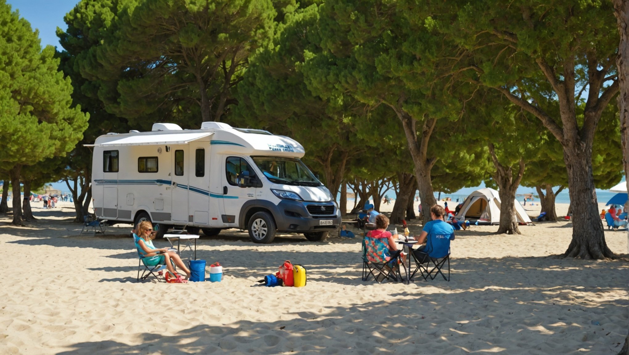
M 517 175 L 513 176 L 513 169 L 502 165 L 498 161 L 493 143 L 489 143 L 489 154 L 494 163 L 496 172 L 493 178 L 498 184 L 498 196 L 500 197 L 500 225 L 498 226 L 498 234 L 521 234 L 518 228 L 518 221 L 515 217 L 515 192 L 518 190 L 520 180 L 524 175 L 524 160 L 520 158 Z

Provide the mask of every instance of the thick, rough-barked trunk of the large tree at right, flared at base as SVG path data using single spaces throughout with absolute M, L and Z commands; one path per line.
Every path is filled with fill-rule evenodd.
M 572 148 L 572 149 L 571 149 Z M 592 148 L 581 142 L 564 146 L 565 167 L 572 213 L 572 241 L 564 257 L 581 259 L 615 258 L 607 247 L 603 222 L 596 203 L 592 173 Z

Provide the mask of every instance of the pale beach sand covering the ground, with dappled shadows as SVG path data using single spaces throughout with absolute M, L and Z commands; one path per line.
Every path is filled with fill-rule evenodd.
M 198 243 L 223 281 L 172 285 L 135 282 L 130 226 L 79 235 L 61 205 L 35 207 L 28 227 L 0 219 L 0 354 L 616 354 L 627 332 L 627 255 L 549 256 L 570 222 L 459 232 L 451 281 L 411 285 L 361 281 L 359 238 L 259 245 L 223 231 Z M 606 241 L 626 253 L 625 232 Z M 284 259 L 306 266 L 306 287 L 255 286 Z

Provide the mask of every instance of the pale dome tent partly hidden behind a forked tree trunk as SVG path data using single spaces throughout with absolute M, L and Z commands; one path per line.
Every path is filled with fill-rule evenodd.
M 515 200 L 515 217 L 520 223 L 530 223 L 531 219 L 518 200 Z M 487 218 L 489 224 L 500 224 L 500 197 L 493 188 L 481 188 L 472 192 L 461 206 L 457 219 Z

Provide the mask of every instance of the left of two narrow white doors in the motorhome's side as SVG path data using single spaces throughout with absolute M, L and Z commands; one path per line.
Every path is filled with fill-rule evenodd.
M 172 166 L 172 220 L 188 222 L 188 146 L 172 146 L 174 159 Z

